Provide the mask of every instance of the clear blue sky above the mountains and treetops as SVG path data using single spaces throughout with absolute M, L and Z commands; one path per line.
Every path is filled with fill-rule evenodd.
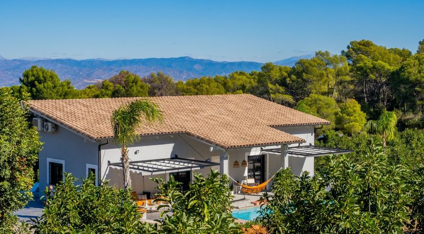
M 0 55 L 270 62 L 369 39 L 415 52 L 424 1 L 2 1 Z

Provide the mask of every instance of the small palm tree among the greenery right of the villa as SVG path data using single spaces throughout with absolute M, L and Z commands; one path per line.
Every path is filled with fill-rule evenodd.
M 368 121 L 364 129 L 369 133 L 381 134 L 383 139 L 383 147 L 386 147 L 386 140 L 391 140 L 395 137 L 396 123 L 398 122 L 398 117 L 395 112 L 387 111 L 384 109 L 381 112 L 378 120 Z

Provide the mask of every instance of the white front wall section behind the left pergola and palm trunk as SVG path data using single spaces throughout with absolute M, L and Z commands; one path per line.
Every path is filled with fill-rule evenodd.
M 139 153 L 134 154 L 137 150 Z M 178 155 L 179 158 L 201 161 L 210 159 L 211 162 L 219 163 L 219 153 L 219 151 L 210 152 L 209 145 L 193 139 L 186 134 L 143 136 L 139 142 L 129 147 L 129 157 L 131 161 L 170 158 L 174 157 L 174 155 Z M 113 141 L 109 141 L 109 144 L 103 145 L 102 147 L 102 179 L 110 180 L 109 185 L 123 187 L 122 170 L 109 167 L 108 161 L 111 163 L 120 162 L 120 151 L 116 148 Z M 208 174 L 210 168 L 219 170 L 219 166 L 213 166 L 195 171 L 202 174 Z M 155 189 L 156 183 L 149 178 L 162 177 L 166 181 L 168 175 L 169 173 L 141 176 L 138 173 L 131 172 L 132 187 L 137 193 L 143 191 L 157 192 Z

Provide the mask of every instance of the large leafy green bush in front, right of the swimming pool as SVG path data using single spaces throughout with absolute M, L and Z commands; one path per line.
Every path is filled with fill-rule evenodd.
M 311 178 L 290 169 L 276 174 L 274 195 L 259 220 L 280 233 L 403 233 L 409 220 L 410 171 L 389 165 L 378 141 L 369 140 L 360 160 L 323 157 Z

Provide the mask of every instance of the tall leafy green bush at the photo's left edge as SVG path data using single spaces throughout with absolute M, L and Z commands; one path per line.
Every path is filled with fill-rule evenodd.
M 12 231 L 13 211 L 32 199 L 33 166 L 42 143 L 26 121 L 27 110 L 12 91 L 0 88 L 0 233 Z

